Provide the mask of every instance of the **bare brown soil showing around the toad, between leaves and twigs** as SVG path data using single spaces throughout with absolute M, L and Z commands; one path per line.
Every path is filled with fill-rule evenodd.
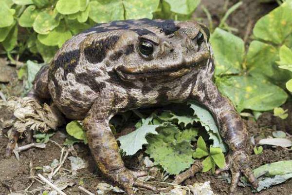
M 249 36 L 252 34 L 253 26 L 261 16 L 265 15 L 269 11 L 271 11 L 274 7 L 277 6 L 276 3 L 270 4 L 260 4 L 258 0 L 242 0 L 243 5 L 237 9 L 235 13 L 233 13 L 227 23 L 238 29 L 238 32 L 235 32 L 237 36 L 240 36 L 242 39 L 245 39 L 246 42 L 249 42 Z M 226 10 L 223 10 L 225 0 L 202 0 L 201 4 L 209 10 L 212 15 L 212 19 L 214 21 L 214 25 L 216 26 L 219 23 L 219 19 L 224 15 Z M 229 7 L 237 2 L 237 0 L 230 0 Z M 195 18 L 200 18 L 204 23 L 208 24 L 206 16 L 199 8 L 194 14 Z M 7 95 L 19 96 L 21 93 L 19 90 L 19 84 L 17 83 L 15 73 L 11 73 L 11 81 L 9 84 L 1 85 L 1 91 Z M 10 90 L 9 90 L 10 89 Z M 287 104 L 287 107 L 292 108 L 292 104 Z M 292 109 L 291 109 L 292 110 Z M 0 111 L 3 114 L 3 111 Z M 292 116 L 292 113 L 290 113 Z M 273 117 L 271 113 L 265 113 L 257 123 L 248 120 L 246 121 L 250 136 L 254 136 L 255 139 L 264 136 L 269 136 L 272 134 L 272 129 L 287 131 L 288 133 L 292 133 L 291 124 L 292 119 L 288 118 L 286 120 L 278 120 Z M 64 130 L 60 130 L 55 133 L 55 135 L 51 138 L 56 143 L 62 145 L 65 140 Z M 38 173 L 43 174 L 42 170 L 35 169 L 36 167 L 43 167 L 46 165 L 50 165 L 54 159 L 59 159 L 61 155 L 60 147 L 54 142 L 48 142 L 46 144 L 45 149 L 29 149 L 27 151 L 20 153 L 20 160 L 18 161 L 15 156 L 11 156 L 10 158 L 5 158 L 5 147 L 7 144 L 7 138 L 0 135 L 0 195 L 7 195 L 10 192 L 22 192 L 31 185 L 32 179 L 29 178 L 32 174 L 32 171 L 35 172 L 36 176 Z M 27 144 L 25 140 L 20 141 L 19 145 Z M 91 157 L 89 148 L 84 144 L 75 144 L 74 150 L 79 157 L 84 159 L 88 163 L 88 167 L 81 169 L 78 171 L 77 176 L 71 176 L 70 172 L 70 162 L 66 160 L 64 165 L 62 166 L 59 176 L 70 175 L 75 185 L 73 187 L 68 187 L 64 190 L 67 195 L 82 195 L 79 189 L 77 189 L 78 185 L 83 186 L 85 189 L 91 191 L 92 193 L 96 193 L 97 185 L 100 182 L 110 181 L 106 180 L 97 169 L 94 160 Z M 75 154 L 75 153 L 74 153 Z M 71 156 L 71 154 L 69 155 Z M 137 156 L 132 157 L 131 159 L 126 159 L 126 166 L 129 168 L 139 168 L 139 158 Z M 261 155 L 253 155 L 252 156 L 252 166 L 256 168 L 260 165 L 272 163 L 280 160 L 291 160 L 292 153 L 283 148 L 271 148 L 265 147 L 263 153 Z M 135 167 L 133 167 L 133 165 Z M 33 167 L 33 169 L 31 169 Z M 67 170 L 67 171 L 66 171 Z M 161 180 L 160 176 L 156 177 L 157 180 Z M 172 178 L 169 178 L 168 182 L 171 182 Z M 187 179 L 184 184 L 193 184 L 195 182 L 204 182 L 211 181 L 212 190 L 218 195 L 227 195 L 229 184 L 226 180 L 217 178 L 216 176 L 212 176 L 210 173 L 198 173 L 196 176 Z M 78 185 L 77 185 L 78 184 Z M 31 191 L 33 189 L 37 189 L 42 186 L 39 182 L 35 181 L 32 186 L 28 189 Z M 161 185 L 158 185 L 161 186 Z M 34 193 L 38 195 L 39 193 Z M 140 189 L 137 192 L 137 195 L 151 195 L 153 192 Z M 252 191 L 250 187 L 238 187 L 237 195 L 251 195 Z M 270 189 L 266 189 L 261 191 L 260 193 L 256 193 L 256 195 L 290 195 L 292 194 L 292 179 L 280 184 L 276 185 Z M 111 195 L 109 193 L 109 195 Z

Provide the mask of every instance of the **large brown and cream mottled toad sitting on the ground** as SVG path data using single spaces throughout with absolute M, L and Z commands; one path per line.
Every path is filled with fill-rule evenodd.
M 231 170 L 230 192 L 235 191 L 240 173 L 256 186 L 246 127 L 212 81 L 214 63 L 208 39 L 208 29 L 194 21 L 143 19 L 101 24 L 68 40 L 50 67 L 40 70 L 30 95 L 52 98 L 66 117 L 83 120 L 99 169 L 128 195 L 134 194 L 132 186 L 154 188 L 136 180 L 145 172 L 125 168 L 110 118 L 135 108 L 197 100 L 212 112 L 229 145 L 222 170 Z M 145 47 L 140 47 L 145 41 L 146 54 Z

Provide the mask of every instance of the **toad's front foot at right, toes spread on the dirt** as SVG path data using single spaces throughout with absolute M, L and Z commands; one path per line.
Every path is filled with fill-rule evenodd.
M 256 177 L 254 176 L 251 169 L 251 160 L 248 154 L 245 151 L 236 151 L 231 152 L 226 159 L 226 165 L 224 168 L 216 171 L 218 175 L 222 171 L 230 170 L 232 178 L 230 184 L 230 195 L 233 195 L 236 192 L 237 184 L 241 173 L 247 177 L 249 182 L 253 185 L 254 188 L 258 186 Z

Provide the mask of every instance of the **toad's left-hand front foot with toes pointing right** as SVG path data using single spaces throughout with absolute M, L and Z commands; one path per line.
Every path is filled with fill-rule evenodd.
M 140 176 L 147 176 L 146 171 L 135 172 L 128 170 L 127 168 L 124 167 L 122 169 L 110 173 L 109 176 L 114 182 L 116 182 L 120 187 L 122 187 L 128 195 L 135 194 L 133 187 L 146 188 L 148 190 L 157 192 L 156 187 L 137 179 Z

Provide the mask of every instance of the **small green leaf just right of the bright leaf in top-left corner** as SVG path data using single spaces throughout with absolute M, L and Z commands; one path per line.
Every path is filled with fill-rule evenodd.
M 28 6 L 20 16 L 18 23 L 22 27 L 32 27 L 39 11 L 35 5 Z

